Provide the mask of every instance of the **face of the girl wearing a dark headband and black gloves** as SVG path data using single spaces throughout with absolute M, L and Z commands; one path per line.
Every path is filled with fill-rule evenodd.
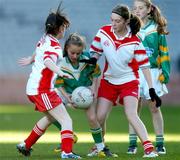
M 111 14 L 111 23 L 115 33 L 121 33 L 127 25 L 125 19 L 116 13 Z

